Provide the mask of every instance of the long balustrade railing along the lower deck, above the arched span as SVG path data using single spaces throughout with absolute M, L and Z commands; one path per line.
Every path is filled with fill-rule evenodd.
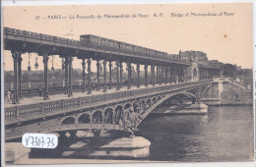
M 147 93 L 153 93 L 153 92 L 165 93 L 168 91 L 181 90 L 184 88 L 198 86 L 206 83 L 213 83 L 213 82 L 214 82 L 213 80 L 209 80 L 209 81 L 200 81 L 200 82 L 193 82 L 193 83 L 162 85 L 162 86 L 156 86 L 156 87 L 117 91 L 113 93 L 104 93 L 104 94 L 91 95 L 86 97 L 77 97 L 77 98 L 42 102 L 42 103 L 36 103 L 36 104 L 30 104 L 30 105 L 9 107 L 9 108 L 5 108 L 5 120 L 14 120 L 17 118 L 22 118 L 30 115 L 41 115 L 41 114 L 45 114 L 49 112 L 51 113 L 53 111 L 58 111 L 58 110 L 62 111 L 70 108 L 82 107 L 89 104 L 96 104 L 97 102 L 104 102 L 104 101 L 109 101 L 113 99 L 126 98 L 126 97 L 135 96 L 135 95 L 143 96 L 143 95 L 146 95 Z

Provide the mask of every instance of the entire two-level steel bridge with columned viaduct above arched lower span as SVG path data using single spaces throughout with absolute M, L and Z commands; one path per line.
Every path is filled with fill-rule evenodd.
M 189 98 L 195 103 L 206 89 L 219 83 L 213 80 L 213 76 L 220 75 L 220 68 L 206 64 L 197 63 L 194 68 L 194 62 L 151 56 L 135 50 L 96 46 L 79 40 L 15 28 L 4 28 L 3 39 L 4 49 L 11 51 L 14 63 L 14 97 L 12 104 L 5 104 L 4 109 L 6 139 L 21 138 L 28 132 L 55 132 L 60 135 L 69 132 L 74 135 L 78 130 L 93 130 L 96 135 L 98 130 L 127 131 L 124 123 L 124 112 L 127 109 L 132 108 L 137 113 L 135 127 L 138 127 L 163 101 L 179 97 Z M 24 90 L 22 87 L 22 54 L 27 52 L 43 57 L 43 97 L 37 101 L 28 97 L 32 93 L 36 94 L 37 90 Z M 50 55 L 59 55 L 65 60 L 64 89 L 48 87 Z M 82 60 L 83 69 L 83 84 L 76 89 L 81 91 L 77 94 L 73 92 L 72 85 L 73 57 Z M 99 62 L 103 64 L 103 86 L 99 89 L 97 84 L 96 93 L 91 88 L 92 61 L 96 61 L 97 83 Z M 111 74 L 113 62 L 116 64 L 116 76 Z M 122 78 L 123 63 L 127 66 L 127 87 L 124 87 Z M 137 67 L 136 86 L 131 85 L 132 64 Z M 140 79 L 140 66 L 145 67 L 143 82 Z M 151 75 L 148 72 L 149 67 Z M 109 75 L 106 75 L 107 69 Z M 112 77 L 116 79 L 114 84 Z M 50 95 L 49 90 L 66 95 Z

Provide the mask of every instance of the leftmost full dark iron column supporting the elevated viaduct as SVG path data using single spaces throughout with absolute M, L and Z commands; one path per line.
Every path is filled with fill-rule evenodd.
M 17 63 L 18 63 L 18 55 L 20 53 L 18 51 L 13 51 L 12 50 L 12 57 L 14 59 L 14 94 L 13 94 L 13 104 L 19 103 L 19 95 L 18 95 L 18 88 L 17 88 Z

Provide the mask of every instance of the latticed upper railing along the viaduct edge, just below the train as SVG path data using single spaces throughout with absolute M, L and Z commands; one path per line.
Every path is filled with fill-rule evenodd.
M 24 37 L 25 40 L 26 38 L 32 38 L 32 39 L 39 39 L 39 40 L 44 40 L 44 41 L 50 41 L 54 43 L 60 43 L 60 44 L 66 44 L 66 46 L 75 46 L 76 48 L 79 49 L 80 46 L 85 46 L 85 47 L 94 47 L 96 49 L 102 49 L 102 50 L 108 50 L 108 51 L 117 51 L 117 52 L 123 52 L 125 54 L 134 54 L 134 55 L 141 55 L 145 58 L 154 58 L 158 59 L 160 61 L 166 61 L 169 60 L 173 63 L 183 63 L 183 64 L 189 64 L 189 62 L 184 61 L 184 60 L 175 60 L 171 59 L 167 56 L 160 56 L 160 55 L 152 55 L 152 54 L 147 54 L 147 53 L 140 53 L 138 51 L 134 50 L 125 50 L 125 49 L 115 49 L 110 46 L 101 46 L 101 45 L 96 45 L 93 43 L 84 43 L 79 40 L 73 40 L 73 39 L 68 39 L 68 38 L 63 38 L 63 37 L 58 37 L 58 36 L 52 36 L 48 34 L 42 34 L 42 33 L 36 33 L 32 31 L 27 31 L 27 30 L 21 30 L 21 29 L 16 29 L 16 28 L 4 28 L 4 34 L 11 34 L 15 36 L 21 36 Z

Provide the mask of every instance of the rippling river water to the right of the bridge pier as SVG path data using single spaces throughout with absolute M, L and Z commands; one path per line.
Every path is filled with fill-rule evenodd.
M 139 128 L 152 142 L 151 160 L 253 159 L 252 106 L 213 106 L 208 115 L 150 115 Z

